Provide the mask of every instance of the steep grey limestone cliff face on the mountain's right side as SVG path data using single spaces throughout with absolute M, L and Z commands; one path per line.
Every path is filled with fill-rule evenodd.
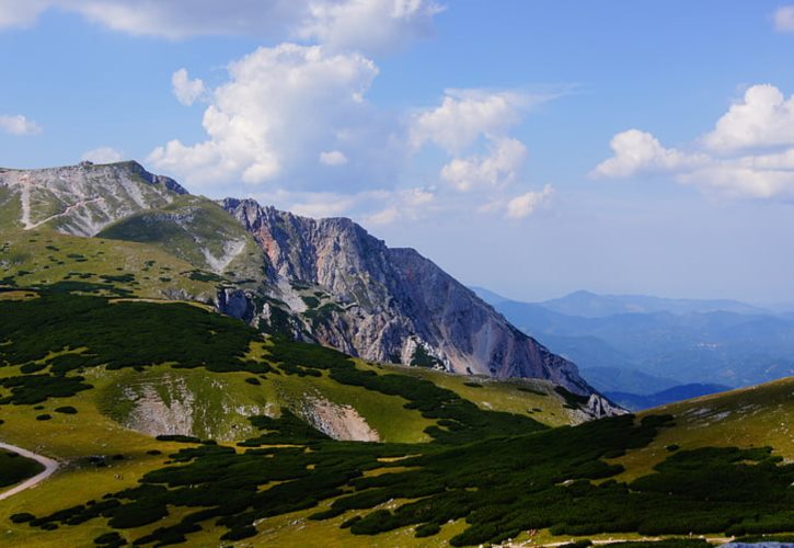
M 575 393 L 594 392 L 573 363 L 518 331 L 413 249 L 390 249 L 345 218 L 299 217 L 251 199 L 221 205 L 265 252 L 278 288 L 273 296 L 315 320 L 311 335 L 318 342 L 366 359 L 544 378 Z M 333 301 L 322 305 L 325 294 Z

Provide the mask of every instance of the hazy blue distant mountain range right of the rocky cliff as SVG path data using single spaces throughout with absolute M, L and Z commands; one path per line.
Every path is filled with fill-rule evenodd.
M 624 401 L 625 395 L 649 397 L 679 385 L 741 387 L 794 374 L 791 313 L 735 300 L 589 292 L 519 302 L 473 289 L 519 329 L 578 364 L 596 388 Z

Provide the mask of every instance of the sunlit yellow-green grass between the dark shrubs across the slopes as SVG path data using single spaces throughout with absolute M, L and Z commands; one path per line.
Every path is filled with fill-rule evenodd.
M 135 275 L 138 269 L 147 267 L 146 260 L 159 256 L 153 255 L 152 248 L 145 244 L 119 241 L 100 243 L 102 241 L 64 237 L 46 231 L 8 235 L 3 241 L 0 241 L 0 246 L 7 244 L 4 252 L 0 254 L 0 260 L 9 261 L 7 258 L 12 258 L 10 262 L 18 263 L 15 266 L 10 264 L 5 266 L 10 266 L 7 269 L 8 271 L 16 267 L 16 271 L 13 271 L 13 277 L 14 281 L 20 279 L 20 285 L 35 285 L 62 281 L 69 272 L 92 273 L 95 276 L 88 282 L 94 283 L 101 282 L 99 276 L 103 274 L 117 276 L 129 273 Z M 55 247 L 57 250 L 48 249 L 48 246 Z M 49 259 L 50 255 L 51 259 Z M 85 260 L 80 260 L 81 256 Z M 42 260 L 42 258 L 45 259 Z M 65 264 L 58 264 L 58 262 Z M 20 274 L 21 264 L 35 265 L 35 272 Z M 124 264 L 124 269 L 128 270 L 116 271 L 116 264 Z M 49 266 L 49 269 L 44 266 Z M 162 271 L 161 266 L 168 270 Z M 165 254 L 162 254 L 156 264 L 149 266 L 150 270 L 156 267 L 160 267 L 160 271 L 165 274 L 162 277 L 171 277 L 171 279 L 166 282 L 160 279 L 160 276 L 152 279 L 153 276 L 143 276 L 143 272 L 141 272 L 135 276 L 135 282 L 138 282 L 139 285 L 118 281 L 108 285 L 125 287 L 133 295 L 147 298 L 157 298 L 162 295 L 173 286 L 174 279 L 184 284 L 204 284 L 207 292 L 214 289 L 212 284 L 199 283 L 191 279 L 187 274 L 183 274 L 189 271 L 182 269 L 192 267 L 184 262 L 170 259 Z M 175 278 L 174 272 L 181 277 Z M 7 272 L 0 277 L 8 275 Z M 145 279 L 145 277 L 149 279 Z M 0 294 L 0 301 L 24 302 L 26 299 L 35 298 L 37 297 L 34 293 L 25 290 Z M 170 305 L 158 305 L 157 308 L 168 310 Z M 133 309 L 127 308 L 126 310 Z M 8 318 L 8 310 L 5 312 Z M 222 324 L 222 329 L 231 329 L 231 324 L 228 324 L 227 321 L 223 321 Z M 133 326 L 129 328 L 134 330 Z M 147 329 L 152 329 L 152 327 L 147 326 Z M 181 328 L 179 322 L 173 326 L 165 322 L 163 329 L 173 329 L 174 334 L 184 336 L 185 328 Z M 245 328 L 240 324 L 239 329 Z M 42 344 L 47 344 L 47 341 L 50 340 L 45 332 L 39 330 L 31 329 L 28 332 L 43 335 Z M 262 340 L 260 339 L 260 341 Z M 0 336 L 0 345 L 5 343 L 7 341 Z M 153 344 L 160 345 L 161 343 Z M 248 358 L 254 362 L 267 361 L 269 344 L 252 343 L 246 353 Z M 55 353 L 64 351 L 60 347 L 49 350 Z M 0 346 L 1 352 L 2 346 Z M 55 354 L 50 354 L 48 359 L 43 362 L 48 362 L 54 356 Z M 163 361 L 154 363 L 163 363 Z M 520 413 L 550 425 L 564 424 L 571 420 L 569 411 L 563 408 L 562 398 L 543 383 L 487 381 L 419 368 L 406 369 L 361 361 L 355 363 L 358 369 L 371 370 L 378 375 L 399 374 L 412 378 L 429 379 L 435 385 L 450 389 L 474 402 L 481 410 Z M 141 365 L 148 366 L 149 362 L 141 363 Z M 20 373 L 19 365 L 0 367 L 0 380 L 19 376 Z M 149 366 L 143 372 L 135 372 L 129 368 L 107 370 L 103 367 L 93 367 L 83 373 L 87 380 L 94 387 L 91 390 L 78 392 L 69 398 L 50 398 L 42 404 L 43 409 L 34 409 L 34 406 L 24 404 L 0 406 L 0 419 L 4 421 L 0 425 L 1 439 L 67 461 L 62 471 L 42 486 L 0 503 L 0 524 L 2 524 L 0 532 L 4 532 L 0 533 L 0 539 L 14 546 L 90 546 L 94 537 L 110 530 L 105 518 L 92 520 L 79 526 L 61 526 L 58 533 L 50 534 L 31 528 L 25 524 L 11 524 L 9 516 L 19 512 L 32 512 L 42 516 L 84 503 L 89 499 L 99 500 L 105 493 L 134 487 L 146 472 L 163 468 L 169 460 L 169 454 L 184 447 L 181 444 L 158 442 L 122 427 L 116 420 L 124 419 L 125 412 L 128 412 L 129 404 L 124 401 L 127 391 L 125 389 L 135 391 L 136 387 L 149 385 L 162 391 L 162 387 L 165 385 L 177 380 L 183 381 L 197 400 L 207 402 L 205 404 L 207 412 L 194 419 L 196 432 L 212 435 L 226 432 L 229 435 L 217 435 L 217 437 L 229 441 L 239 441 L 252 435 L 243 415 L 251 412 L 253 408 L 261 410 L 286 407 L 297 410 L 308 397 L 321 397 L 341 406 L 354 407 L 387 442 L 425 442 L 428 436 L 423 431 L 436 422 L 422 416 L 416 410 L 405 409 L 403 406 L 406 400 L 399 396 L 386 396 L 359 386 L 341 384 L 325 370 L 322 370 L 319 376 L 298 376 L 287 373 L 287 369 L 283 369 L 280 375 L 268 373 L 264 378 L 260 376 L 261 385 L 254 386 L 245 381 L 252 377 L 252 374 L 246 372 L 209 373 L 202 367 L 173 369 L 168 365 Z M 481 386 L 471 386 L 472 384 Z M 519 390 L 519 388 L 525 388 L 525 390 Z M 0 388 L 0 398 L 8 393 L 7 389 Z M 68 415 L 54 412 L 56 408 L 64 404 L 78 408 L 78 414 Z M 245 411 L 230 413 L 230 409 Z M 626 468 L 626 471 L 615 476 L 615 479 L 632 480 L 651 473 L 655 465 L 670 456 L 670 452 L 665 448 L 670 444 L 678 444 L 683 449 L 703 446 L 771 445 L 776 454 L 789 459 L 794 457 L 794 439 L 789 430 L 791 419 L 794 416 L 794 379 L 677 403 L 653 412 L 671 413 L 676 419 L 676 425 L 661 430 L 647 447 L 630 449 L 623 457 L 608 459 L 609 463 L 621 464 Z M 41 413 L 49 413 L 53 419 L 37 421 L 36 416 Z M 651 413 L 644 413 L 644 415 L 647 414 Z M 549 439 L 553 438 L 552 436 Z M 511 455 L 507 458 L 516 458 L 518 455 L 520 455 L 519 458 L 523 458 L 525 455 L 532 455 L 544 446 L 545 444 L 541 444 L 541 446 L 534 447 L 529 443 L 526 450 L 520 449 L 517 454 L 511 453 L 516 452 L 517 447 L 509 444 L 505 445 L 502 450 L 492 450 L 488 446 L 481 447 L 473 453 L 471 453 L 473 449 L 465 450 L 469 450 L 474 459 L 482 458 L 482 461 L 477 463 L 482 465 L 483 469 L 496 466 L 496 469 L 504 473 L 504 470 L 499 468 L 502 466 L 499 460 L 506 455 Z M 416 450 L 421 452 L 422 447 L 422 445 L 417 445 Z M 586 445 L 583 445 L 582 449 L 585 448 Z M 485 450 L 483 452 L 483 449 Z M 574 449 L 578 452 L 578 447 Z M 160 450 L 162 454 L 150 455 L 148 452 L 152 450 Z M 96 455 L 106 456 L 107 466 L 97 467 L 96 463 L 92 463 L 89 457 Z M 112 455 L 122 455 L 124 458 L 114 460 L 111 458 Z M 497 455 L 498 458 L 494 458 Z M 411 470 L 410 468 L 386 468 L 387 466 L 384 463 L 384 468 L 369 470 L 365 476 L 404 473 Z M 454 472 L 454 465 L 451 468 L 442 467 L 441 469 L 445 470 L 444 473 L 446 470 Z M 472 471 L 474 470 L 477 470 L 476 466 L 472 468 Z M 412 480 L 406 477 L 406 481 Z M 317 513 L 318 510 L 330 507 L 334 499 L 322 501 L 319 507 L 308 511 L 268 517 L 258 526 L 255 537 L 245 539 L 238 546 L 263 544 L 276 546 L 440 546 L 468 527 L 462 520 L 452 520 L 452 523 L 441 527 L 438 535 L 429 538 L 415 538 L 414 526 L 399 527 L 376 537 L 353 535 L 348 529 L 340 528 L 340 525 L 352 516 L 366 516 L 371 513 L 371 510 L 377 509 L 398 509 L 406 502 L 399 498 L 380 505 L 368 506 L 369 510 L 346 511 L 324 521 L 308 520 L 308 516 Z M 156 527 L 179 523 L 187 512 L 187 510 L 173 507 L 171 515 L 164 520 L 152 525 L 125 529 L 124 534 L 127 538 L 140 537 L 151 533 Z M 219 535 L 223 530 L 223 528 L 210 528 L 194 533 L 189 535 L 189 541 L 194 545 L 218 545 Z M 613 534 L 588 536 L 607 538 Z M 632 536 L 636 535 L 631 533 L 620 535 L 622 538 Z M 526 535 L 518 538 L 527 539 Z M 565 535 L 562 538 L 571 537 Z M 540 537 L 536 537 L 536 540 L 538 539 L 559 540 L 548 530 L 542 532 Z

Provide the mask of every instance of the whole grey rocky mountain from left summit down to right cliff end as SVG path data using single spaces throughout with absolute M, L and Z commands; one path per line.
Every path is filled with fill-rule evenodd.
M 573 363 L 431 261 L 388 248 L 349 219 L 309 219 L 250 199 L 212 203 L 136 162 L 1 170 L 0 218 L 18 230 L 153 246 L 189 263 L 196 273 L 187 277 L 216 284 L 212 306 L 263 332 L 370 361 L 595 392 Z M 19 263 L 18 275 L 32 272 Z M 594 406 L 609 408 L 598 397 Z

